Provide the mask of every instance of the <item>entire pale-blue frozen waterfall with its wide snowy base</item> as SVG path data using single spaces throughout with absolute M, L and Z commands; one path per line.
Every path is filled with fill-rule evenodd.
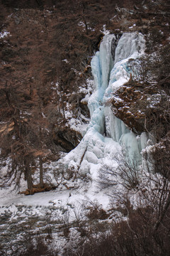
M 112 93 L 130 79 L 130 58 L 139 58 L 145 49 L 141 33 L 123 33 L 118 37 L 106 35 L 100 50 L 91 60 L 95 92 L 88 102 L 91 122 L 79 145 L 62 159 L 66 168 L 74 166 L 83 173 L 93 175 L 94 165 L 103 161 L 114 162 L 122 147 L 128 149 L 130 158 L 141 158 L 140 152 L 147 144 L 147 136 L 137 136 L 114 116 L 108 102 Z

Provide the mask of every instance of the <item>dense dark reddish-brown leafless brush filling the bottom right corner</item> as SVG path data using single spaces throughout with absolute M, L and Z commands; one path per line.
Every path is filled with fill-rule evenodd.
M 167 215 L 164 225 L 168 224 Z M 143 256 L 169 255 L 169 224 L 154 230 L 152 208 L 138 208 L 129 215 L 128 222 L 114 223 L 108 233 L 91 236 L 77 250 L 70 248 L 64 256 Z

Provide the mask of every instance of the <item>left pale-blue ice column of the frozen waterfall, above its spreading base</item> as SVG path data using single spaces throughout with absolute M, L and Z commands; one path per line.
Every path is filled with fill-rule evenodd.
M 111 51 L 112 44 L 115 45 L 115 35 L 107 35 L 101 42 L 100 50 L 91 60 L 91 70 L 94 76 L 96 91 L 91 95 L 88 107 L 91 114 L 89 128 L 94 127 L 96 131 L 103 134 L 105 129 L 105 119 L 103 112 L 103 95 L 108 87 L 111 69 L 113 68 L 113 57 Z

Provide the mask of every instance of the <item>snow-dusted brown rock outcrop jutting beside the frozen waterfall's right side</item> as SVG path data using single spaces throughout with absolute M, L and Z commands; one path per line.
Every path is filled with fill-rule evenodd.
M 164 117 L 166 109 L 162 102 L 166 95 L 154 85 L 144 85 L 132 80 L 114 92 L 111 99 L 113 113 L 136 134 L 151 132 Z M 166 101 L 165 101 L 166 102 Z M 163 107 L 164 106 L 164 107 Z M 163 110 L 164 109 L 164 110 Z

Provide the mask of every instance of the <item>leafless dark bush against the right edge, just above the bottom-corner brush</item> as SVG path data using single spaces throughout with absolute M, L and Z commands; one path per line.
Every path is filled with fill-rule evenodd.
M 145 151 L 147 163 L 152 164 L 152 172 L 147 168 L 142 178 L 140 189 L 145 205 L 152 207 L 155 214 L 155 230 L 162 225 L 169 214 L 170 206 L 170 171 L 169 171 L 169 137 L 152 146 L 151 152 Z M 148 166 L 149 166 L 148 165 Z

